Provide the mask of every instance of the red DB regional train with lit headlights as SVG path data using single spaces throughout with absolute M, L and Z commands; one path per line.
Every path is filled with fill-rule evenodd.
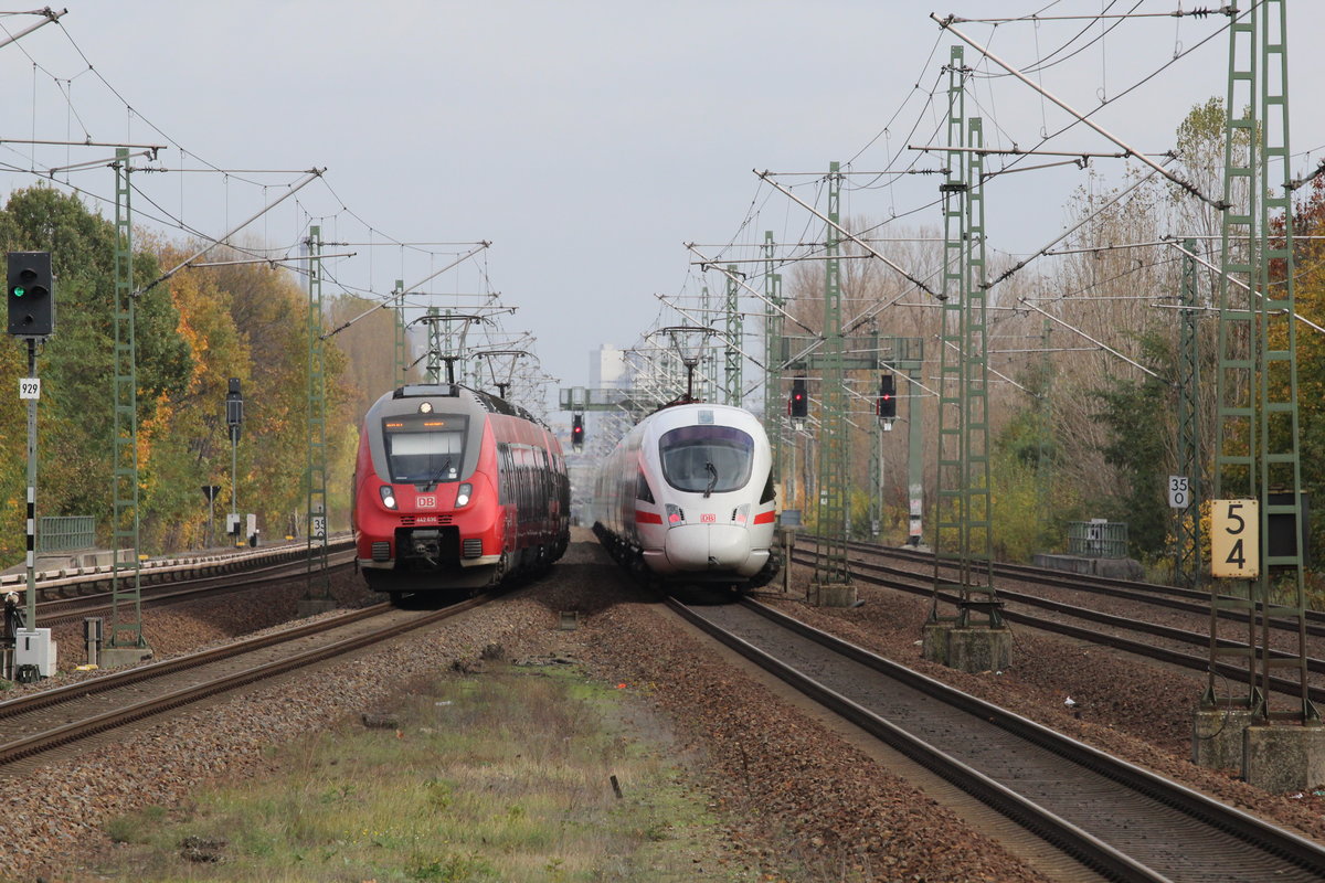
M 401 387 L 364 414 L 352 512 L 368 588 L 468 594 L 566 552 L 566 461 L 523 408 L 458 384 Z

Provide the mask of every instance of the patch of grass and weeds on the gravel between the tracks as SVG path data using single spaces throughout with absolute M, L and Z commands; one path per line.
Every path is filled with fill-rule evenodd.
M 398 727 L 310 735 L 280 772 L 114 819 L 135 880 L 755 880 L 613 690 L 564 667 L 443 679 Z M 613 793 L 616 776 L 623 797 Z

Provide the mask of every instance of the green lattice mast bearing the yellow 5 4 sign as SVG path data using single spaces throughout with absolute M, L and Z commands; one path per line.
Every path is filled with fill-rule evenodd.
M 1230 704 L 1267 720 L 1318 723 L 1306 678 L 1306 610 L 1301 556 L 1301 465 L 1297 426 L 1297 327 L 1293 261 L 1292 168 L 1288 150 L 1288 21 L 1284 0 L 1260 0 L 1230 25 L 1228 101 L 1224 127 L 1223 266 L 1219 282 L 1219 373 L 1214 496 L 1260 502 L 1260 575 L 1240 580 L 1246 597 L 1211 592 L 1212 606 L 1248 614 L 1246 694 Z M 1246 151 L 1246 154 L 1243 154 Z M 1273 180 L 1273 183 L 1272 183 Z M 1276 232 L 1273 225 L 1283 224 Z M 1246 246 L 1243 244 L 1246 242 Z M 1271 269 L 1283 278 L 1272 279 Z M 1236 277 L 1246 287 L 1230 285 Z M 1271 492 L 1279 498 L 1271 502 Z M 1269 553 L 1269 524 L 1280 516 L 1292 551 Z M 1280 519 L 1275 519 L 1276 522 Z M 1287 544 L 1285 544 L 1287 545 Z M 1287 601 L 1275 596 L 1271 584 Z M 1297 626 L 1297 647 L 1272 658 L 1271 620 Z M 1203 704 L 1219 704 L 1211 616 L 1211 674 Z M 1259 630 L 1259 634 L 1257 634 Z M 1279 650 L 1285 647 L 1280 646 Z M 1238 653 L 1246 658 L 1246 651 Z M 1298 707 L 1268 707 L 1272 669 L 1296 670 Z M 1227 687 L 1224 687 L 1227 690 Z

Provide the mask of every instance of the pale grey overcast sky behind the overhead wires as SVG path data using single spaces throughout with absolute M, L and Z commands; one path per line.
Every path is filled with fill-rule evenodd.
M 822 237 L 804 209 L 751 169 L 812 172 L 829 160 L 859 172 L 938 165 L 905 150 L 939 143 L 943 132 L 941 66 L 959 40 L 930 12 L 1049 17 L 1194 5 L 1200 4 L 70 0 L 58 25 L 0 49 L 8 86 L 0 135 L 167 144 L 159 164 L 174 171 L 135 175 L 143 188 L 136 220 L 183 222 L 211 236 L 286 192 L 301 177 L 297 169 L 326 167 L 325 183 L 310 184 L 245 233 L 286 248 L 311 221 L 325 240 L 375 242 L 327 252 L 356 250 L 331 273 L 376 293 L 390 291 L 396 278 L 416 282 L 466 250 L 395 242 L 488 240 L 482 261 L 425 290 L 500 291 L 518 307 L 504 327 L 535 335 L 543 368 L 562 385 L 584 385 L 591 349 L 629 346 L 656 320 L 656 293 L 698 290 L 684 242 L 705 244 L 710 254 L 735 242 L 754 257 L 749 246 L 762 242 L 766 229 L 779 241 Z M 15 33 L 30 20 L 11 16 L 0 24 Z M 1224 95 L 1227 36 L 1121 93 L 1196 48 L 1226 19 L 1108 24 L 1117 26 L 1102 38 L 1100 24 L 1080 20 L 958 28 L 1020 68 L 1084 30 L 1053 57 L 1059 64 L 1032 78 L 1081 110 L 1112 99 L 1094 116 L 1100 124 L 1142 151 L 1169 150 L 1192 105 Z M 1317 97 L 1325 53 L 1316 45 L 1325 4 L 1291 3 L 1289 25 L 1291 143 L 1300 154 L 1295 164 L 1309 169 L 1325 156 Z M 970 46 L 966 64 L 980 74 L 1002 73 Z M 1010 77 L 978 75 L 973 89 L 967 113 L 984 116 L 987 146 L 1028 148 L 1068 119 Z M 1081 126 L 1048 147 L 1117 150 Z M 109 154 L 4 144 L 0 163 L 40 169 Z M 204 165 L 284 171 L 179 171 Z M 1096 171 L 1112 180 L 1122 172 L 1114 160 L 1096 163 Z M 5 177 L 11 189 L 36 180 L 21 171 Z M 56 179 L 113 193 L 105 168 Z M 814 201 L 814 179 L 779 180 Z M 938 183 L 851 180 L 861 187 L 844 196 L 844 210 L 876 218 L 924 207 Z M 1060 228 L 1072 188 L 1084 181 L 1084 172 L 1067 167 L 991 185 L 990 245 L 1043 246 Z M 900 224 L 939 220 L 930 208 Z M 722 286 L 721 278 L 709 283 Z

